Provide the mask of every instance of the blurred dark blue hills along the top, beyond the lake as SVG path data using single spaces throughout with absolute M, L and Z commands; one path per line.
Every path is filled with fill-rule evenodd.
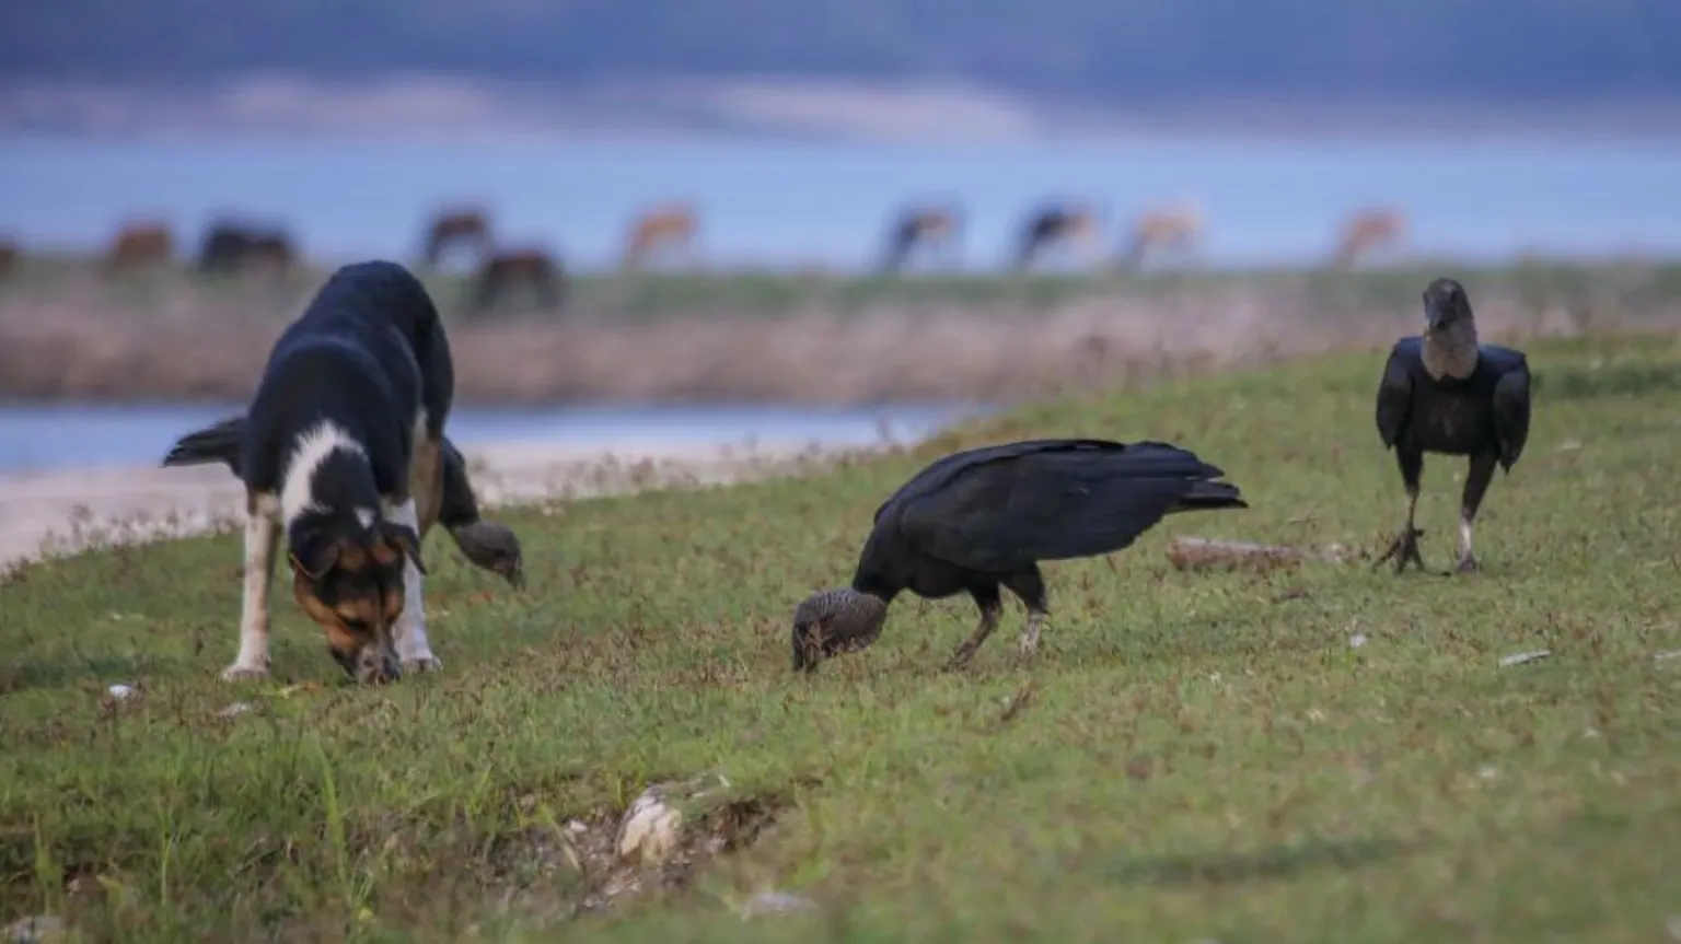
M 55 0 L 0 7 L 0 81 L 249 74 L 647 89 L 921 82 L 1133 111 L 1558 108 L 1681 94 L 1673 0 Z M 671 89 L 681 96 L 681 86 Z

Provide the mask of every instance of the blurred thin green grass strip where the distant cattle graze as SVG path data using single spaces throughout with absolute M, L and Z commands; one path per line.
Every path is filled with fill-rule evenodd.
M 580 274 L 573 281 L 572 311 L 607 314 L 620 319 L 659 319 L 693 314 L 760 314 L 785 316 L 804 311 L 852 314 L 881 307 L 962 307 L 975 311 L 1052 311 L 1091 297 L 1126 294 L 1136 299 L 1168 299 L 1197 292 L 1281 294 L 1293 301 L 1325 309 L 1405 307 L 1417 306 L 1424 284 L 1441 274 L 1452 274 L 1478 287 L 1478 296 L 1511 296 L 1530 306 L 1563 304 L 1568 307 L 1614 306 L 1644 311 L 1681 301 L 1681 260 L 1609 259 L 1567 260 L 1533 259 L 1515 264 L 1462 264 L 1457 260 L 1417 259 L 1402 265 L 1385 265 L 1338 272 L 1328 269 L 1185 269 L 1143 274 L 1047 272 L 1047 274 L 908 274 L 883 277 L 871 274 L 792 274 L 743 270 L 718 274 Z M 104 281 L 87 259 L 35 259 L 0 284 L 0 302 L 7 297 L 54 296 L 72 282 L 101 284 L 111 304 L 131 307 L 166 306 L 182 292 L 208 299 L 250 301 L 264 292 L 276 301 L 313 291 L 324 270 L 298 270 L 276 286 L 261 279 L 202 279 L 182 270 L 133 274 Z M 457 275 L 429 275 L 427 287 L 449 311 L 462 309 L 467 284 Z M 504 314 L 530 307 L 523 297 L 511 299 Z

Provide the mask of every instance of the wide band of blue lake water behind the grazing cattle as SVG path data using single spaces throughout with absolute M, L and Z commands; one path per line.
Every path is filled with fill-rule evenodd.
M 1681 148 L 1666 141 L 1180 136 L 1126 141 L 888 146 L 756 139 L 335 141 L 217 136 L 138 141 L 0 136 L 0 230 L 25 245 L 94 247 L 121 217 L 188 232 L 215 212 L 284 222 L 323 259 L 408 257 L 439 203 L 482 198 L 509 242 L 578 269 L 617 254 L 627 217 L 666 198 L 704 213 L 719 264 L 856 265 L 893 208 L 955 197 L 970 265 L 997 264 L 1035 202 L 1101 202 L 1111 225 L 1195 197 L 1217 264 L 1320 255 L 1346 212 L 1395 203 L 1412 245 L 1499 257 L 1681 250 Z

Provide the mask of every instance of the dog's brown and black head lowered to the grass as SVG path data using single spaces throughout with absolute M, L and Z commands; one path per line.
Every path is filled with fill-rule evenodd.
M 393 682 L 400 670 L 392 628 L 403 613 L 403 563 L 420 563 L 420 536 L 390 521 L 335 524 L 291 536 L 292 595 L 321 625 L 328 650 L 363 684 Z

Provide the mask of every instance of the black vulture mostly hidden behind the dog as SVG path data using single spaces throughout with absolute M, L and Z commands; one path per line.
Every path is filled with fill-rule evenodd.
M 229 417 L 183 435 L 163 457 L 163 465 L 205 465 L 222 462 L 239 475 L 239 443 L 245 417 Z M 501 574 L 511 586 L 524 586 L 519 538 L 513 529 L 479 517 L 479 502 L 467 479 L 467 459 L 449 437 L 442 440 L 444 489 L 437 522 L 474 566 Z

